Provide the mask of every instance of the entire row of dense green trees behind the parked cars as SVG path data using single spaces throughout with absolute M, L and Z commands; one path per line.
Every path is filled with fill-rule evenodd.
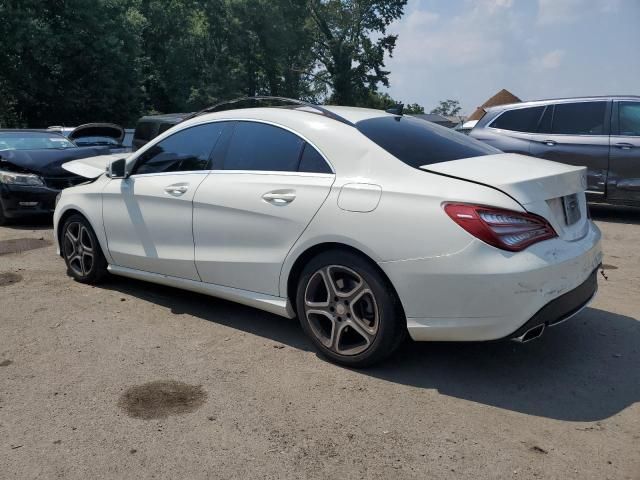
M 0 0 L 0 125 L 132 125 L 257 94 L 389 108 L 405 4 Z

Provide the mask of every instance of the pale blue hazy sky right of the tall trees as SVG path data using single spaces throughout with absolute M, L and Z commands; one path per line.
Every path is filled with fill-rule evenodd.
M 470 114 L 502 88 L 522 100 L 640 95 L 640 0 L 409 0 L 389 27 L 389 94 Z

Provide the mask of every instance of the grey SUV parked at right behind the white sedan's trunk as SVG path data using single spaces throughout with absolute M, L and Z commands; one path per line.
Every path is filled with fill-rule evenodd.
M 584 165 L 589 200 L 640 205 L 639 96 L 493 107 L 470 135 L 504 152 Z

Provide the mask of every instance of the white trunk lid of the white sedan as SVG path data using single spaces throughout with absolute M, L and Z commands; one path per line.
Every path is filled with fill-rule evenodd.
M 420 168 L 498 189 L 528 212 L 546 218 L 564 240 L 587 233 L 585 167 L 502 153 Z

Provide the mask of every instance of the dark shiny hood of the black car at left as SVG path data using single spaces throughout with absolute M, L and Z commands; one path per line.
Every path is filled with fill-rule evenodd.
M 0 168 L 9 166 L 12 169 L 36 173 L 43 177 L 68 177 L 68 171 L 62 168 L 64 163 L 106 153 L 109 153 L 107 147 L 77 147 L 60 150 L 2 150 L 0 151 Z

